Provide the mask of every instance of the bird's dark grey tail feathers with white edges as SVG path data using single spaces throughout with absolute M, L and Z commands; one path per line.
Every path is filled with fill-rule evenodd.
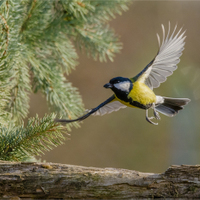
M 175 116 L 183 106 L 190 102 L 188 98 L 170 98 L 157 96 L 159 100 L 162 98 L 162 103 L 158 103 L 155 110 L 168 117 Z

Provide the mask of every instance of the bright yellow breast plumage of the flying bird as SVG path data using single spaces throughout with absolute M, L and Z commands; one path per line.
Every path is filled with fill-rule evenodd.
M 129 92 L 128 98 L 142 105 L 148 105 L 156 102 L 156 95 L 154 92 L 146 84 L 139 81 L 133 83 L 133 89 Z M 136 107 L 130 105 L 129 102 L 122 101 L 118 98 L 117 100 L 126 106 Z

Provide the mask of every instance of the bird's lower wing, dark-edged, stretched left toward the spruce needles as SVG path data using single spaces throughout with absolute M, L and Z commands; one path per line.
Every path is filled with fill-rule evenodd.
M 85 115 L 77 118 L 77 119 L 55 119 L 55 122 L 64 122 L 64 123 L 71 123 L 75 121 L 82 121 L 89 117 L 90 115 L 104 115 L 111 113 L 113 111 L 118 111 L 120 108 L 126 108 L 127 106 L 123 105 L 119 101 L 116 100 L 115 95 L 112 95 L 106 101 L 98 105 L 96 108 L 93 108 L 88 111 Z

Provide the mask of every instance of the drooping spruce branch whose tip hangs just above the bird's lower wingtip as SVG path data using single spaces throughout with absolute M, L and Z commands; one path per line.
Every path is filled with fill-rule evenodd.
M 42 52 L 39 52 L 43 57 Z M 39 55 L 38 55 L 39 58 Z M 66 58 L 67 59 L 67 58 Z M 57 66 L 56 60 L 41 58 L 38 62 L 35 56 L 29 58 L 34 75 L 34 91 L 41 90 L 54 111 L 60 116 L 75 118 L 83 112 L 81 97 L 71 83 L 67 83 L 63 71 Z M 37 65 L 35 65 L 35 63 Z M 77 124 L 74 124 L 77 126 Z M 71 124 L 68 126 L 70 127 Z

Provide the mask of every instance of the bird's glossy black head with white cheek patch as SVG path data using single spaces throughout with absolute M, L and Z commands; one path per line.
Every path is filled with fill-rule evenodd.
M 130 79 L 124 77 L 116 77 L 104 85 L 105 88 L 110 88 L 113 92 L 128 94 L 133 88 L 133 83 Z

